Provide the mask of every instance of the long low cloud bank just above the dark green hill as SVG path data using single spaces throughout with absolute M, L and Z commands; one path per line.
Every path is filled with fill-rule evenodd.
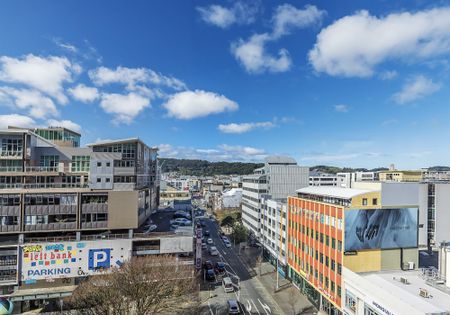
M 170 144 L 160 144 L 158 148 L 161 157 L 179 159 L 260 162 L 267 156 L 261 149 L 227 144 L 219 145 L 217 148 L 175 147 Z

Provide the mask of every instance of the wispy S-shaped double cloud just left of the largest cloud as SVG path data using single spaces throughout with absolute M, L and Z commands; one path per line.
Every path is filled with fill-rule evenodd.
M 277 55 L 266 51 L 269 42 L 278 40 L 294 29 L 320 23 L 325 11 L 315 6 L 297 9 L 290 4 L 280 5 L 272 16 L 272 32 L 254 34 L 247 40 L 239 39 L 231 44 L 231 53 L 249 73 L 285 72 L 292 66 L 289 52 L 281 48 Z

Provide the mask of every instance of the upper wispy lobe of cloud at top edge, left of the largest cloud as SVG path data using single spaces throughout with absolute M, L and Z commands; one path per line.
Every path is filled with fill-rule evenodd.
M 326 12 L 316 6 L 306 5 L 303 10 L 291 4 L 282 4 L 275 9 L 272 17 L 273 36 L 278 38 L 287 35 L 295 28 L 305 28 L 319 24 Z

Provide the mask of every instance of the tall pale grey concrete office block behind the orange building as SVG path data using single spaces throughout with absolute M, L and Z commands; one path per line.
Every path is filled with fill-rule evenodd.
M 242 178 L 242 222 L 256 237 L 261 231 L 261 198 L 283 199 L 308 185 L 309 169 L 290 157 L 271 156 L 253 175 Z

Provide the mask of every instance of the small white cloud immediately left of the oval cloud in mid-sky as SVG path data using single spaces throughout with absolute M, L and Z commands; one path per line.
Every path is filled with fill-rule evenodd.
M 100 106 L 108 114 L 114 115 L 115 122 L 130 124 L 140 112 L 150 106 L 150 100 L 136 93 L 104 93 Z

